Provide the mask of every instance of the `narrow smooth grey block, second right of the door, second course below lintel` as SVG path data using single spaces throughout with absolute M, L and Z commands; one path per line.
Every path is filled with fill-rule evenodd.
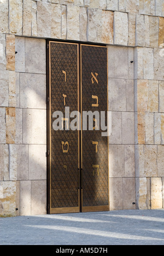
M 134 112 L 134 80 L 126 80 L 126 111 Z

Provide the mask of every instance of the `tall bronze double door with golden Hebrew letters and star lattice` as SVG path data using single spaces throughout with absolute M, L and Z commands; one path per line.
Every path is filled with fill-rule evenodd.
M 52 41 L 47 48 L 48 213 L 109 211 L 108 137 L 101 129 L 107 48 Z

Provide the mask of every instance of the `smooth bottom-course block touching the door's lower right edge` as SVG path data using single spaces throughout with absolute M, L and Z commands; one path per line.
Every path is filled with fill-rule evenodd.
M 122 210 L 122 178 L 109 179 L 110 211 Z

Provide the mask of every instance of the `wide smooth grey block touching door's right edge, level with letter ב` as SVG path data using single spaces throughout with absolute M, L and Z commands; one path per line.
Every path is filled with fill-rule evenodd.
M 109 110 L 126 111 L 126 80 L 108 79 Z

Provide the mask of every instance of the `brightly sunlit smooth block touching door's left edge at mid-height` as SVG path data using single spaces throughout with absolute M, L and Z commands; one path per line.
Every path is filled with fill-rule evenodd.
M 23 143 L 46 144 L 45 109 L 23 109 Z

